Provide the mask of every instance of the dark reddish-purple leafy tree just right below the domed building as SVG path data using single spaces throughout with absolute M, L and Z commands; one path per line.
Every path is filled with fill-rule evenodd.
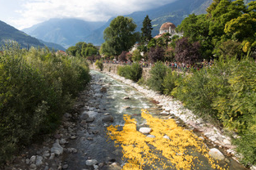
M 190 43 L 188 38 L 181 38 L 176 41 L 175 59 L 177 62 L 194 65 L 199 59 L 199 42 Z

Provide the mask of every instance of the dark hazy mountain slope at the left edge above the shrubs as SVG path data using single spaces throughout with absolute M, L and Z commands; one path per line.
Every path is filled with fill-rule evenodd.
M 37 38 L 33 38 L 28 34 L 12 27 L 11 25 L 7 25 L 5 22 L 0 20 L 0 46 L 5 45 L 8 41 L 16 41 L 18 42 L 22 48 L 26 47 L 49 47 L 54 48 L 55 50 L 63 50 L 66 49 L 58 44 L 43 42 Z

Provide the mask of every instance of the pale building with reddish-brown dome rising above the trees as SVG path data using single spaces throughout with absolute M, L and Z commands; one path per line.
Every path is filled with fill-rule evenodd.
M 162 26 L 159 29 L 159 34 L 156 35 L 154 38 L 160 38 L 165 33 L 171 34 L 171 37 L 174 36 L 174 35 L 178 35 L 179 37 L 181 37 L 183 34 L 182 33 L 176 33 L 175 29 L 176 29 L 176 25 L 174 25 L 173 23 L 171 23 L 171 22 L 163 23 Z

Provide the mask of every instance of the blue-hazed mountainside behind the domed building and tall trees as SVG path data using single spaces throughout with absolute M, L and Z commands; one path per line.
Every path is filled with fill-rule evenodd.
M 144 17 L 149 15 L 149 18 L 152 20 L 152 35 L 154 37 L 159 33 L 159 29 L 163 23 L 172 22 L 176 26 L 180 25 L 181 21 L 192 13 L 197 15 L 206 13 L 207 7 L 212 2 L 213 0 L 178 0 L 149 11 L 136 11 L 127 16 L 133 18 L 135 24 L 137 25 L 136 31 L 140 32 Z M 113 19 L 114 18 L 108 20 L 107 23 L 101 28 L 95 30 L 92 34 L 85 37 L 85 42 L 92 42 L 94 45 L 100 45 L 103 43 L 103 31 L 109 26 L 111 20 Z

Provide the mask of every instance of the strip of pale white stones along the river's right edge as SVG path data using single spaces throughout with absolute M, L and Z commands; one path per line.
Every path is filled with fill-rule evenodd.
M 112 65 L 108 64 L 106 65 L 106 67 L 112 68 Z M 202 136 L 200 136 L 202 140 L 206 139 L 210 141 L 214 147 L 216 147 L 211 149 L 209 152 L 209 154 L 212 154 L 212 157 L 216 157 L 217 155 L 218 159 L 225 159 L 225 157 L 223 157 L 222 153 L 219 150 L 217 150 L 217 148 L 222 149 L 224 152 L 226 152 L 226 155 L 231 156 L 236 161 L 238 161 L 238 158 L 242 156 L 235 152 L 235 145 L 231 145 L 230 136 L 223 135 L 223 130 L 220 130 L 214 127 L 213 124 L 206 123 L 203 121 L 203 119 L 196 117 L 191 110 L 185 109 L 180 101 L 176 101 L 171 96 L 165 96 L 159 94 L 158 92 L 154 92 L 153 90 L 150 90 L 148 87 L 139 86 L 137 83 L 134 83 L 130 79 L 118 76 L 117 71 L 113 71 L 112 69 L 107 68 L 103 69 L 103 72 L 105 74 L 108 74 L 112 78 L 116 78 L 117 80 L 121 81 L 122 83 L 126 83 L 131 87 L 135 87 L 139 92 L 144 93 L 145 96 L 152 98 L 154 101 L 157 101 L 158 105 L 162 106 L 162 114 L 170 116 L 175 115 L 176 117 L 180 118 L 184 123 L 189 125 L 191 129 L 197 129 L 197 131 L 199 131 L 202 134 Z M 95 67 L 91 65 L 91 69 L 95 69 Z M 116 67 L 115 70 L 117 70 Z M 149 77 L 149 70 L 147 70 L 147 77 Z M 239 136 L 234 135 L 234 137 Z M 256 167 L 253 166 L 250 169 L 256 170 Z

